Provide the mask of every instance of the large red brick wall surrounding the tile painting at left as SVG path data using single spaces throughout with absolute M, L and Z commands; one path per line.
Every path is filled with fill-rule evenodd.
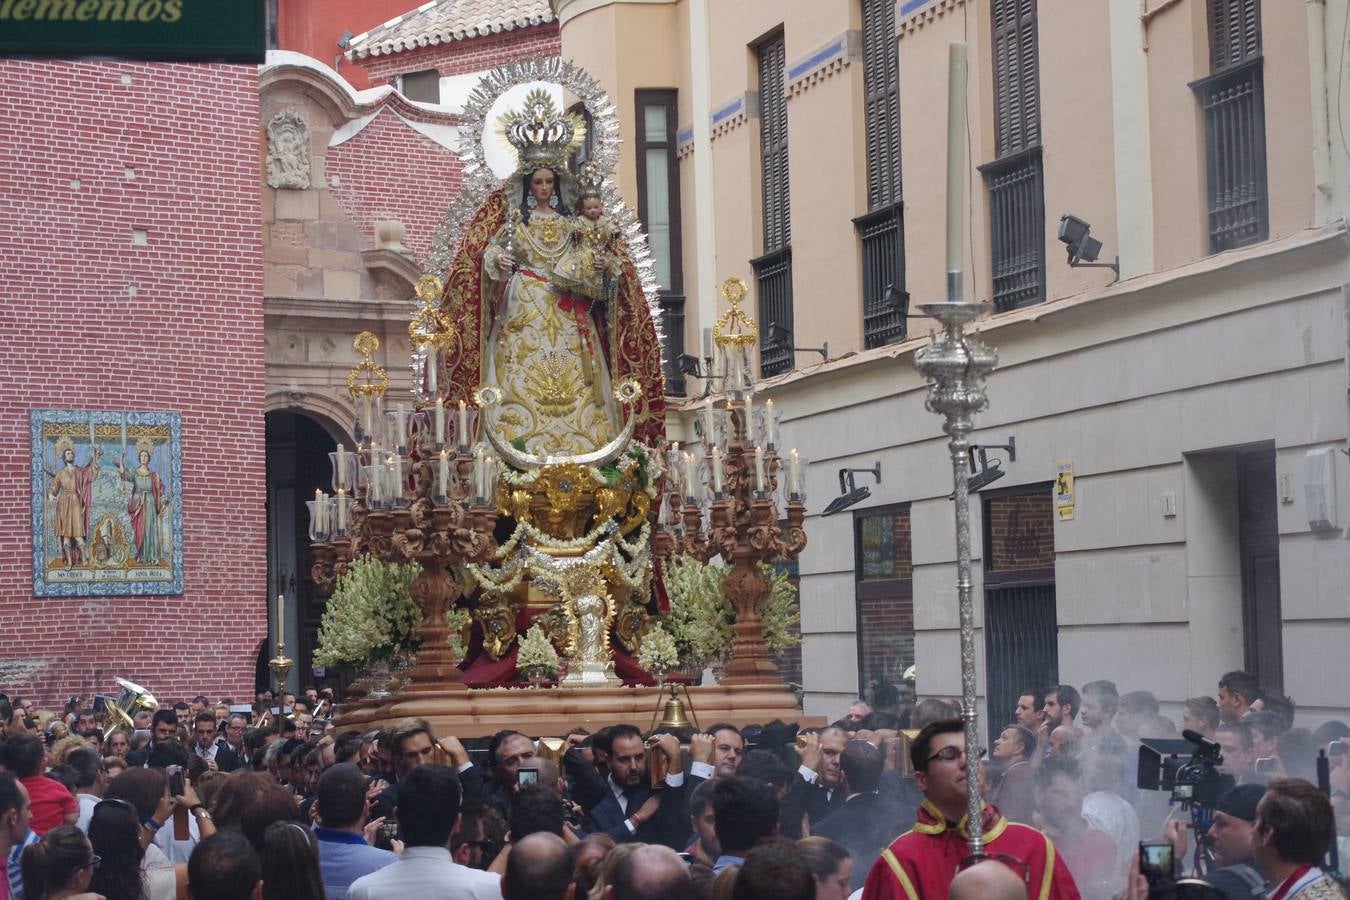
M 0 62 L 0 687 L 51 703 L 124 676 L 161 700 L 251 698 L 267 627 L 256 69 Z M 182 414 L 182 596 L 32 596 L 32 407 Z

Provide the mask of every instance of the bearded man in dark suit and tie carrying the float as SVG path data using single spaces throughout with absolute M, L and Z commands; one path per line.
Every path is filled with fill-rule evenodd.
M 651 788 L 643 733 L 632 725 L 616 725 L 610 729 L 606 789 L 585 810 L 595 827 L 617 843 L 641 841 L 683 850 L 678 845 L 688 831 L 684 791 L 688 781 L 701 779 L 684 775 L 675 735 L 662 734 L 651 743 L 666 756 L 668 775 L 662 789 Z

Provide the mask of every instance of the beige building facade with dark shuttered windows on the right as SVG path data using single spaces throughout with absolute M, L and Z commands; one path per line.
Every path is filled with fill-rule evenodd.
M 992 718 L 1023 687 L 1095 679 L 1176 716 L 1241 668 L 1308 721 L 1346 715 L 1346 0 L 554 8 L 630 136 L 625 197 L 679 235 L 682 345 L 732 275 L 782 329 L 760 390 L 811 460 L 807 714 L 910 664 L 921 695 L 960 692 L 952 471 L 913 366 L 930 322 L 902 305 L 945 296 L 963 40 L 965 291 L 994 304 L 977 328 L 999 351 L 976 440 L 1015 444 L 988 451 L 1003 475 L 972 501 Z M 1061 215 L 1119 279 L 1065 262 Z M 876 463 L 880 483 L 855 474 L 869 498 L 814 514 L 840 470 Z

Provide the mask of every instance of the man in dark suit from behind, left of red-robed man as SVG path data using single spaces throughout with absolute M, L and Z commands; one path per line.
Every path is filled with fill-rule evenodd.
M 849 741 L 840 756 L 844 791 L 848 799 L 837 812 L 811 824 L 811 835 L 826 837 L 853 857 L 853 884 L 857 891 L 867 873 L 891 841 L 914 824 L 913 811 L 905 810 L 878 791 L 884 756 L 867 741 Z

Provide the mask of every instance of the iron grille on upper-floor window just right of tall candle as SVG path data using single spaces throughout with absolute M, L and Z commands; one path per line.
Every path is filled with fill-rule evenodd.
M 1041 148 L 980 166 L 990 189 L 994 305 L 1017 309 L 1045 300 L 1045 181 Z

